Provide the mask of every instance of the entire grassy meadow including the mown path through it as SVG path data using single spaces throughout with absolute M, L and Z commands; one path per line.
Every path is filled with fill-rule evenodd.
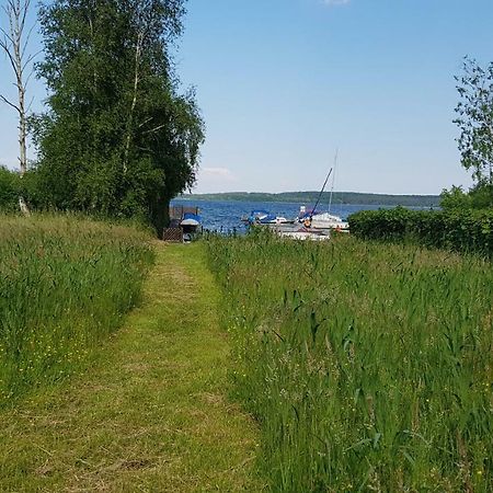
M 61 216 L 0 259 L 9 491 L 491 491 L 485 260 Z

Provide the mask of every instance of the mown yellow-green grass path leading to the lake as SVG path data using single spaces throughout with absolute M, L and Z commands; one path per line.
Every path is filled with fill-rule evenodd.
M 2 492 L 259 491 L 228 402 L 228 342 L 200 244 L 157 245 L 142 306 L 92 367 L 0 412 Z

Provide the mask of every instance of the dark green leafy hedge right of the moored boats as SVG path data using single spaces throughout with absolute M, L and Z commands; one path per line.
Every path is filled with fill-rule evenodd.
M 356 237 L 368 240 L 417 242 L 424 246 L 480 253 L 493 257 L 493 209 L 362 210 L 348 218 Z

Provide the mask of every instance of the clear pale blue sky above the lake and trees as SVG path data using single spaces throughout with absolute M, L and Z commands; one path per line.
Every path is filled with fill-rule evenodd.
M 454 76 L 466 55 L 493 61 L 492 22 L 492 0 L 188 0 L 175 60 L 206 124 L 194 192 L 319 190 L 337 149 L 337 191 L 468 188 Z M 0 162 L 16 162 L 5 105 Z

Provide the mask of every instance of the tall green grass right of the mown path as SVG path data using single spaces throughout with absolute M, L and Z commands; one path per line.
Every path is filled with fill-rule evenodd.
M 272 491 L 491 491 L 493 271 L 339 238 L 211 238 Z

